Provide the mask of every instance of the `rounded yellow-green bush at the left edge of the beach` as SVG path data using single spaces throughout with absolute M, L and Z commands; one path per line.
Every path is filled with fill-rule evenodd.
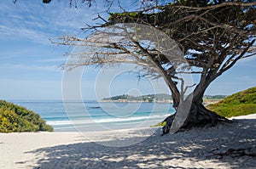
M 53 132 L 32 110 L 0 100 L 0 132 Z

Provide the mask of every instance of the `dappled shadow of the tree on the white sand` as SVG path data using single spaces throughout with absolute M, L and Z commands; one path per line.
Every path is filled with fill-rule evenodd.
M 158 131 L 127 147 L 81 141 L 26 153 L 46 156 L 34 168 L 254 168 L 255 156 L 219 154 L 228 149 L 254 151 L 255 140 L 256 119 L 250 119 L 163 137 Z

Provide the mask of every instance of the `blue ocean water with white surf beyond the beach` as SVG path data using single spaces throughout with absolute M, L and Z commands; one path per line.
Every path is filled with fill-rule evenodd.
M 38 113 L 55 132 L 150 127 L 174 113 L 172 104 L 96 101 L 13 101 Z

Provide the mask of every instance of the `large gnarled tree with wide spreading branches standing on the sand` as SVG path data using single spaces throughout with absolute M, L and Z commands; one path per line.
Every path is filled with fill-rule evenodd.
M 170 117 L 172 127 L 177 123 L 177 126 L 183 127 L 215 125 L 218 121 L 227 120 L 207 110 L 202 104 L 202 97 L 211 82 L 238 60 L 256 54 L 255 6 L 256 3 L 250 1 L 175 1 L 132 12 L 111 13 L 108 20 L 99 16 L 105 23 L 84 28 L 92 30 L 87 39 L 66 36 L 54 42 L 88 47 L 76 54 L 77 59 L 65 65 L 66 69 L 84 65 L 134 63 L 143 66 L 143 76 L 163 77 L 172 91 L 173 106 L 177 110 Z M 159 31 L 158 34 L 164 32 L 175 42 L 173 48 L 176 48 L 176 44 L 180 48 L 174 53 L 182 54 L 187 65 L 181 60 L 171 60 L 155 41 L 159 37 L 145 33 L 147 28 L 136 24 L 151 26 Z M 115 38 L 107 38 L 106 34 Z M 137 36 L 141 34 L 144 37 Z M 158 41 L 167 42 L 165 37 L 160 37 Z M 147 42 L 154 45 L 147 45 Z M 168 46 L 165 48 L 168 49 Z M 200 80 L 186 85 L 180 77 L 183 74 L 198 75 Z M 186 93 L 188 88 L 193 89 L 189 94 Z M 188 99 L 191 106 L 187 117 L 183 115 L 181 107 Z M 178 115 L 182 115 L 182 122 L 175 122 Z

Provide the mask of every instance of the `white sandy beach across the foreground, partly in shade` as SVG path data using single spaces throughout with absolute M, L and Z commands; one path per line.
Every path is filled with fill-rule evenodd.
M 217 127 L 160 133 L 0 133 L 0 168 L 256 168 L 256 114 Z

